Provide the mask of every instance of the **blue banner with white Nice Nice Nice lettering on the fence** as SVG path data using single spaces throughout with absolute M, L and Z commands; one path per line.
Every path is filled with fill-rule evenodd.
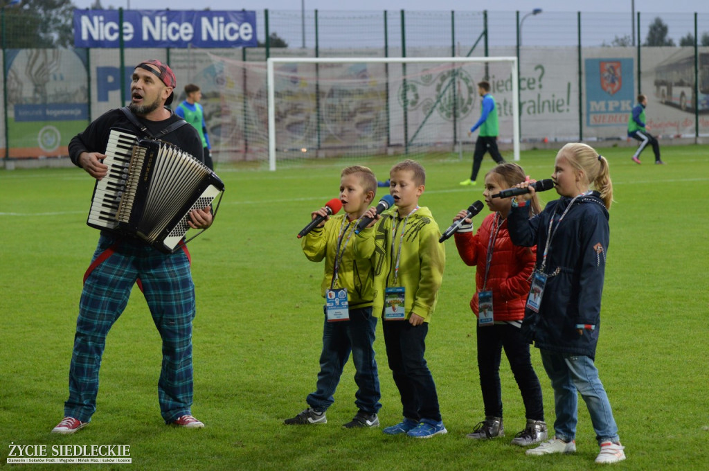
M 255 11 L 74 10 L 77 48 L 254 48 Z

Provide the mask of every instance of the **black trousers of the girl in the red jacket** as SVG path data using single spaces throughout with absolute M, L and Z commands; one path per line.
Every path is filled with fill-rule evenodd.
M 485 415 L 502 417 L 502 392 L 500 388 L 500 361 L 502 349 L 510 362 L 517 386 L 522 393 L 527 419 L 543 421 L 544 403 L 539 378 L 532 367 L 530 345 L 520 328 L 510 324 L 477 327 L 478 370 L 483 393 Z

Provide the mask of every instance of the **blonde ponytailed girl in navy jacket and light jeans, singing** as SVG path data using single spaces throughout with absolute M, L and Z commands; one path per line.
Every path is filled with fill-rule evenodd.
M 534 180 L 517 187 L 508 216 L 515 245 L 537 245 L 537 263 L 522 333 L 540 349 L 554 388 L 555 436 L 527 455 L 576 451 L 577 394 L 586 402 L 601 447 L 596 462 L 625 460 L 608 396 L 593 363 L 601 323 L 601 293 L 608 250 L 608 208 L 613 200 L 608 161 L 590 146 L 566 144 L 554 161 L 554 188 L 562 196 L 527 219 Z M 593 188 L 593 189 L 592 189 Z

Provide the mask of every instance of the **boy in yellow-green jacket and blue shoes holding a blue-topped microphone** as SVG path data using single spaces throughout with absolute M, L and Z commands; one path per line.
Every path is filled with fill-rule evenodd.
M 413 160 L 394 165 L 389 193 L 396 206 L 361 231 L 354 253 L 374 263 L 374 313 L 383 317 L 384 343 L 401 394 L 403 421 L 384 433 L 429 438 L 447 433 L 426 360 L 425 338 L 445 267 L 440 229 L 426 207 L 418 206 L 425 170 Z M 370 208 L 365 217 L 375 217 Z

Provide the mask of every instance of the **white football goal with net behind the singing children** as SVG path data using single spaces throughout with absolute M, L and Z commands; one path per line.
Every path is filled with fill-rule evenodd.
M 516 57 L 270 57 L 268 160 L 453 155 L 472 149 L 477 82 L 496 98 L 501 145 L 520 159 Z

